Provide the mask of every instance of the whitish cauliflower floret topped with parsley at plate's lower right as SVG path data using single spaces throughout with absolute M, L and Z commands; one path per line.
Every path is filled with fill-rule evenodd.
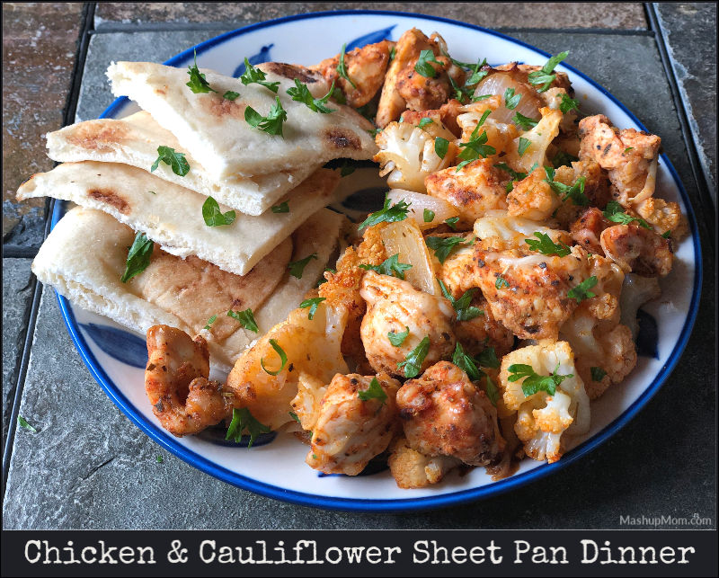
M 529 365 L 540 376 L 567 376 L 555 394 L 544 390 L 530 396 L 522 391 L 524 379 L 510 381 L 510 366 Z M 572 376 L 572 377 L 568 377 Z M 514 426 L 531 458 L 550 464 L 562 457 L 565 438 L 582 435 L 590 428 L 590 400 L 574 367 L 574 354 L 567 342 L 542 342 L 511 351 L 502 359 L 500 388 L 504 404 L 517 411 Z

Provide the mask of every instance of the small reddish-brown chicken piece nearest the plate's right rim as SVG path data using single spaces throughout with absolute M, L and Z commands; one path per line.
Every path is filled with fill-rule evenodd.
M 674 255 L 670 240 L 635 223 L 615 225 L 602 231 L 601 248 L 623 271 L 644 277 L 666 277 Z

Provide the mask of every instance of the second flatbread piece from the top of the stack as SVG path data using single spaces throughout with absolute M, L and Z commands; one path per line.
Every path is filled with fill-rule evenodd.
M 211 196 L 247 215 L 261 215 L 266 209 L 296 188 L 322 163 L 307 163 L 277 173 L 256 177 L 217 176 L 182 148 L 169 130 L 163 129 L 146 111 L 125 119 L 85 120 L 48 133 L 48 156 L 60 163 L 102 161 L 137 166 L 150 171 L 157 159 L 157 147 L 171 147 L 185 155 L 191 169 L 185 176 L 173 173 L 170 165 L 160 163 L 152 173 L 165 181 Z

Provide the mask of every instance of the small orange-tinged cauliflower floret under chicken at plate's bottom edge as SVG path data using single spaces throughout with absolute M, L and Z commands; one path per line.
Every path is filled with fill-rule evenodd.
M 404 489 L 439 484 L 442 478 L 462 462 L 451 456 L 425 456 L 410 448 L 404 436 L 395 438 L 387 459 L 389 471 L 397 485 Z

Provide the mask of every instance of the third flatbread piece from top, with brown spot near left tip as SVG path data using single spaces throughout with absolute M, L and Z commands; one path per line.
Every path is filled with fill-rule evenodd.
M 288 195 L 288 213 L 259 217 L 237 213 L 231 225 L 208 227 L 205 197 L 141 169 L 117 163 L 65 163 L 22 184 L 19 200 L 49 196 L 101 209 L 142 231 L 179 257 L 196 255 L 220 269 L 244 275 L 303 221 L 332 200 L 340 175 L 318 169 Z M 229 207 L 220 205 L 224 213 Z

